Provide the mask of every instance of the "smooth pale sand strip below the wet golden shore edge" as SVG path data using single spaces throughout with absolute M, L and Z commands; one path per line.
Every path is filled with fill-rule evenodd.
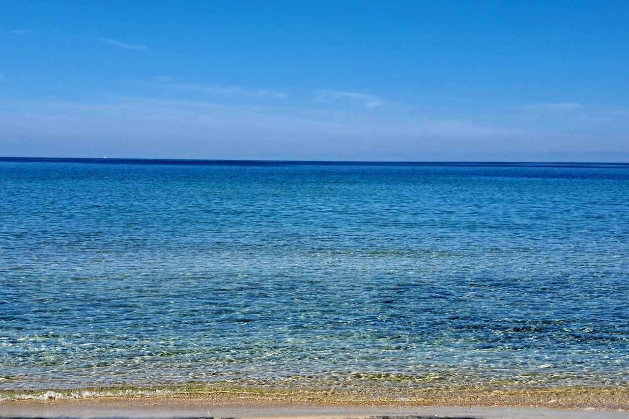
M 539 406 L 386 406 L 326 403 L 267 403 L 211 399 L 81 399 L 5 401 L 2 418 L 486 418 L 486 419 L 612 419 L 629 418 L 628 411 L 552 409 Z

